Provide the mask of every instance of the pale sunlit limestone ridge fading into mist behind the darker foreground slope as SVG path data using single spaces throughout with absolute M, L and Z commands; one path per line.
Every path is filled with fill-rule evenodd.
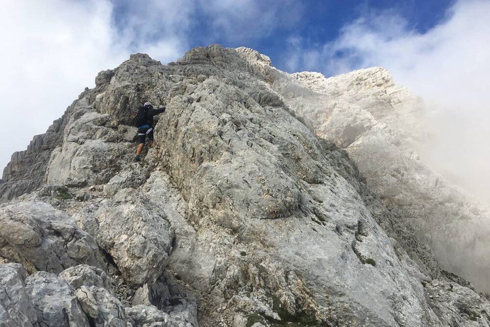
M 415 229 L 441 267 L 490 290 L 489 209 L 419 158 L 417 150 L 433 137 L 420 98 L 379 67 L 330 78 L 269 71 L 284 101 L 317 135 L 348 152 L 370 189 Z

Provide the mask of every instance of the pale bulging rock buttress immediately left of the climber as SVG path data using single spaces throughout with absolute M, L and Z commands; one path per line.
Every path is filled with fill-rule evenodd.
M 46 181 L 67 186 L 108 182 L 131 157 L 134 134 L 127 136 L 127 128 L 96 112 L 86 97 L 73 103 L 71 111 L 63 142 L 51 152 Z

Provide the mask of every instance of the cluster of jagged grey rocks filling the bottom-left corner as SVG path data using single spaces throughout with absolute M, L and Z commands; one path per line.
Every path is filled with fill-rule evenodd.
M 87 265 L 28 277 L 20 264 L 0 265 L 0 325 L 132 326 L 111 285 L 97 277 L 104 273 Z

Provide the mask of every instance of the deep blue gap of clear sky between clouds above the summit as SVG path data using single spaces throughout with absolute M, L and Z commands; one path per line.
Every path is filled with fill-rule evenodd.
M 248 39 L 229 39 L 219 35 L 216 38 L 206 40 L 207 35 L 212 35 L 209 33 L 212 26 L 205 19 L 199 19 L 196 34 L 194 34 L 195 38 L 192 42 L 193 46 L 206 45 L 212 42 L 233 48 L 245 45 L 269 55 L 275 67 L 284 71 L 291 71 L 282 57 L 289 47 L 289 40 L 292 37 L 301 37 L 306 46 L 322 45 L 335 40 L 339 37 L 340 29 L 344 25 L 369 11 L 396 13 L 404 17 L 413 29 L 425 32 L 443 19 L 450 4 L 450 1 L 444 0 L 303 1 L 301 5 L 298 5 L 296 20 L 287 19 L 288 25 L 277 26 L 268 33 L 250 35 Z M 199 30 L 205 31 L 205 34 L 199 35 Z M 203 42 L 202 39 L 206 41 Z M 298 70 L 302 70 L 302 68 L 298 67 Z

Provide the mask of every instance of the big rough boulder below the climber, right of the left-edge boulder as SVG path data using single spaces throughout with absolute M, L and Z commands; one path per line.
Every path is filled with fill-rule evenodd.
M 173 230 L 166 213 L 135 190 L 120 190 L 97 212 L 78 219 L 132 284 L 153 283 L 163 274 Z

